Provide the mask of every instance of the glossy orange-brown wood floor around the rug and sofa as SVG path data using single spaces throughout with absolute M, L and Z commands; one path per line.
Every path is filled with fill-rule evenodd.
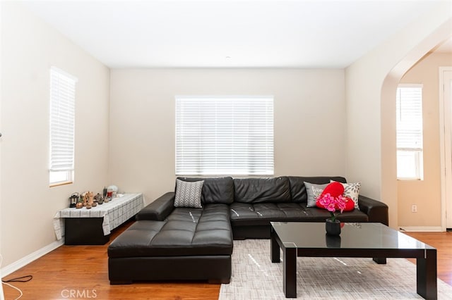
M 129 225 L 131 222 L 114 230 L 110 240 Z M 438 277 L 452 285 L 452 232 L 408 234 L 438 249 Z M 61 246 L 3 280 L 33 276 L 30 282 L 12 283 L 22 290 L 21 299 L 218 299 L 220 285 L 205 282 L 145 282 L 111 286 L 107 246 Z M 4 294 L 6 299 L 16 299 L 20 295 L 6 285 Z

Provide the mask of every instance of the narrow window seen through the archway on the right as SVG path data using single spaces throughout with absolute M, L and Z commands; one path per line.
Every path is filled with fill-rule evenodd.
M 397 113 L 397 178 L 422 180 L 422 85 L 399 85 Z

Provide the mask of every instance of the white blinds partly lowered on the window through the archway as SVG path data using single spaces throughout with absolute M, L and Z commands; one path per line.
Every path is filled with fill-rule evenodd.
M 422 150 L 422 86 L 398 87 L 397 148 Z

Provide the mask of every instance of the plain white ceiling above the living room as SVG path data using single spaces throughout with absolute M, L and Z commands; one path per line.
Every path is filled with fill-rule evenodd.
M 110 68 L 345 68 L 435 1 L 24 3 Z

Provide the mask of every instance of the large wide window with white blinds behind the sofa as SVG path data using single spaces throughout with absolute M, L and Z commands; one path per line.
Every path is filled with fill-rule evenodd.
M 273 175 L 273 96 L 177 96 L 177 175 Z

